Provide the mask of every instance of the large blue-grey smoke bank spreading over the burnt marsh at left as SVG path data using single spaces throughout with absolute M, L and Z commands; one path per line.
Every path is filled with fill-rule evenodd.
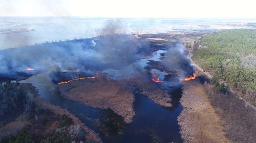
M 82 72 L 104 68 L 118 69 L 136 61 L 140 41 L 120 34 L 122 22 L 107 22 L 98 39 L 80 39 L 45 43 L 0 51 L 0 75 L 15 76 L 29 73 L 27 67 L 40 71 Z M 96 45 L 94 44 L 96 43 Z

